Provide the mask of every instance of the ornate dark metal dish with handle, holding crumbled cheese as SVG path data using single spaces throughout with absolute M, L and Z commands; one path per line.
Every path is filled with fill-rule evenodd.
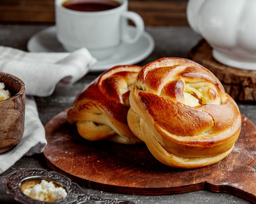
M 28 189 L 40 183 L 41 180 L 52 181 L 56 186 L 61 186 L 66 190 L 67 196 L 58 201 L 46 202 L 35 200 L 23 193 L 24 189 Z M 71 182 L 70 178 L 61 175 L 55 171 L 46 171 L 43 169 L 24 169 L 21 171 L 13 171 L 7 175 L 4 182 L 7 193 L 13 195 L 14 199 L 24 204 L 134 204 L 130 201 L 105 199 L 95 195 L 88 195 L 83 192 L 81 187 L 76 183 Z

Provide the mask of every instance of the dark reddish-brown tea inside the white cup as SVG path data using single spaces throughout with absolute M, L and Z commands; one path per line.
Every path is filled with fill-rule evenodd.
M 115 9 L 120 6 L 120 3 L 115 0 L 67 0 L 62 6 L 75 11 L 91 12 Z

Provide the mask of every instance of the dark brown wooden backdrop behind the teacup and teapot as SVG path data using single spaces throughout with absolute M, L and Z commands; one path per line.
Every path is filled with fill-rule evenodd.
M 188 26 L 188 0 L 129 0 L 146 26 Z M 0 23 L 54 24 L 54 0 L 0 0 Z

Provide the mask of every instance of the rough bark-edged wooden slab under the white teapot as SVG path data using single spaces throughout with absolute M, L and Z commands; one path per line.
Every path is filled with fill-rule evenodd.
M 233 99 L 256 101 L 255 70 L 238 69 L 216 61 L 212 47 L 204 39 L 189 51 L 188 58 L 213 72 Z

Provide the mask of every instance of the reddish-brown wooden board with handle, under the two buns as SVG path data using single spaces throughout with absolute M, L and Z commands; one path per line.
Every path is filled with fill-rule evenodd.
M 224 160 L 200 169 L 177 169 L 157 161 L 144 144 L 85 140 L 67 122 L 66 112 L 45 125 L 43 154 L 50 168 L 81 186 L 139 195 L 207 189 L 256 202 L 256 126 L 245 116 L 238 141 Z

